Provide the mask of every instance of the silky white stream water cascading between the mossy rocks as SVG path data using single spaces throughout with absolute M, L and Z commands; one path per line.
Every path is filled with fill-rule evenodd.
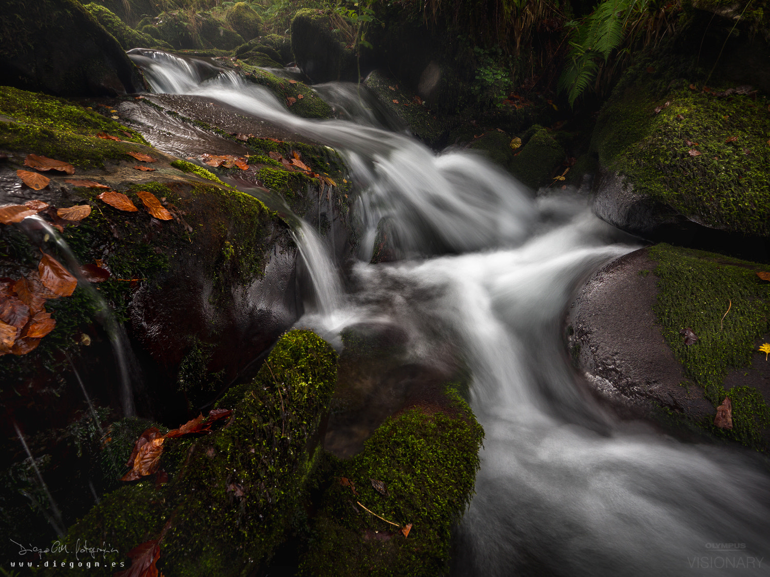
M 637 248 L 632 239 L 577 196 L 531 198 L 483 158 L 436 154 L 383 129 L 344 86 L 322 91 L 358 124 L 297 118 L 232 72 L 158 52 L 133 57 L 156 92 L 216 98 L 345 158 L 369 245 L 343 292 L 323 239 L 300 225 L 316 308 L 298 325 L 336 346 L 347 326 L 394 325 L 407 360 L 441 369 L 460 356 L 469 369 L 486 439 L 457 530 L 456 575 L 766 574 L 765 465 L 735 447 L 618 422 L 569 366 L 564 309 L 591 272 Z M 397 226 L 406 260 L 367 264 L 381 218 Z

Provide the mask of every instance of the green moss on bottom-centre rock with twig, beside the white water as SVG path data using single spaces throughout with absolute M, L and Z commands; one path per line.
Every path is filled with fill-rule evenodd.
M 342 462 L 326 492 L 301 575 L 444 575 L 450 530 L 470 503 L 484 431 L 456 392 L 448 412 L 410 409 L 387 419 L 363 452 Z M 343 486 L 349 479 L 356 492 Z M 373 488 L 385 484 L 387 494 Z M 408 538 L 363 510 L 400 527 Z

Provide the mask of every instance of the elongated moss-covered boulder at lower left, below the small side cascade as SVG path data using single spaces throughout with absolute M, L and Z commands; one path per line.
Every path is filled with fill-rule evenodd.
M 226 425 L 204 437 L 165 440 L 166 485 L 148 479 L 112 492 L 65 542 L 109 542 L 117 549 L 109 561 L 128 565 L 126 552 L 160 539 L 157 566 L 165 575 L 259 570 L 300 507 L 335 377 L 330 345 L 313 332 L 286 333 L 256 379 L 217 403 L 234 410 Z M 92 575 L 115 570 L 100 569 Z

